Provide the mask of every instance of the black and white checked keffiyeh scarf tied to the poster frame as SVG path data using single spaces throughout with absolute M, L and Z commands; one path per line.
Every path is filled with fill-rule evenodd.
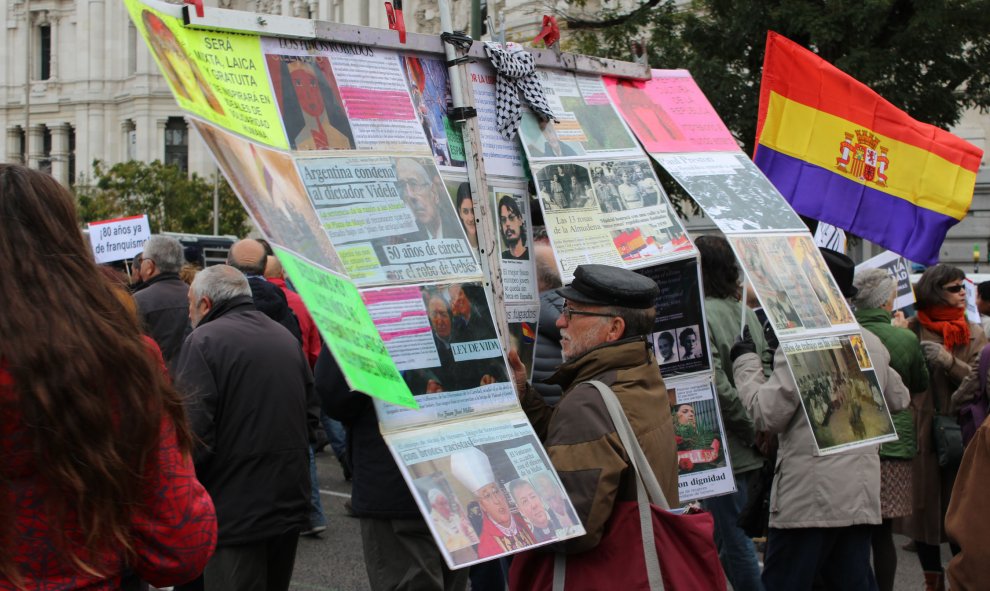
M 516 135 L 522 109 L 519 93 L 536 116 L 544 121 L 557 121 L 543 96 L 543 86 L 536 77 L 536 62 L 532 54 L 517 43 L 485 43 L 485 53 L 498 73 L 495 82 L 495 124 L 507 140 Z

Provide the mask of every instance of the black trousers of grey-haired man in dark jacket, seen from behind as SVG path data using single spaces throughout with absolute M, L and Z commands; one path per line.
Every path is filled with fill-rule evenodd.
M 205 591 L 288 591 L 296 563 L 296 530 L 236 546 L 218 546 L 203 572 Z

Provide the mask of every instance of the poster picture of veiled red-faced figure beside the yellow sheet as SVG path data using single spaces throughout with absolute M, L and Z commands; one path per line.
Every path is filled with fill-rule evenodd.
M 267 54 L 265 61 L 292 149 L 354 149 L 354 134 L 328 58 Z

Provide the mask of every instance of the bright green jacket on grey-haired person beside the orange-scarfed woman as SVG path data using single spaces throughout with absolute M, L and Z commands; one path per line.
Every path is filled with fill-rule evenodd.
M 891 313 L 883 308 L 862 308 L 854 312 L 856 321 L 877 338 L 890 352 L 890 367 L 897 372 L 911 394 L 928 388 L 928 364 L 921 352 L 918 336 L 907 328 L 890 323 Z M 910 459 L 915 454 L 914 416 L 906 408 L 891 413 L 898 440 L 880 446 L 880 457 Z

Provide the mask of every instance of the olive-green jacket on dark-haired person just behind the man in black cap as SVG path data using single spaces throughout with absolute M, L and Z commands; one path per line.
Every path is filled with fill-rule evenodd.
M 732 377 L 732 363 L 729 361 L 729 349 L 739 336 L 741 320 L 739 315 L 742 310 L 746 311 L 746 325 L 753 336 L 753 342 L 756 343 L 756 350 L 766 351 L 767 340 L 763 336 L 763 327 L 755 312 L 737 300 L 705 298 L 715 390 L 718 392 L 718 404 L 722 412 L 722 422 L 725 424 L 729 460 L 732 462 L 734 474 L 756 470 L 763 466 L 763 456 L 753 447 L 756 437 L 753 419 L 739 400 Z M 725 371 L 726 367 L 729 369 L 728 372 Z M 769 376 L 772 366 L 767 360 L 764 360 L 763 368 L 764 375 Z

